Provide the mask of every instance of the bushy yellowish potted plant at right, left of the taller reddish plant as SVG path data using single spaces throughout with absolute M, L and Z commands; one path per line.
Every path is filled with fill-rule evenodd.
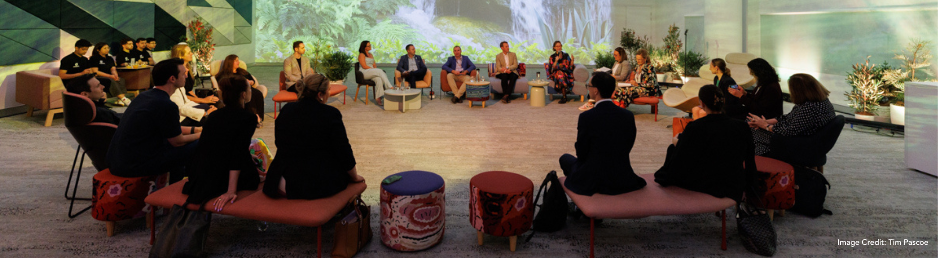
M 870 65 L 870 56 L 867 56 L 865 63 L 855 64 L 854 71 L 847 74 L 847 83 L 853 89 L 844 95 L 859 120 L 873 121 L 877 104 L 883 98 L 883 81 L 876 78 L 875 66 Z

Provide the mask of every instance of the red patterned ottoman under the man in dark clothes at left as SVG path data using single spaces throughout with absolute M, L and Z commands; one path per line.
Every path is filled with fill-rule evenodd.
M 108 236 L 113 236 L 114 222 L 144 217 L 150 214 L 146 195 L 166 186 L 168 174 L 143 178 L 121 178 L 104 169 L 95 174 L 91 195 L 91 216 L 108 222 Z M 147 220 L 152 218 L 147 217 Z M 147 223 L 149 225 L 150 223 Z

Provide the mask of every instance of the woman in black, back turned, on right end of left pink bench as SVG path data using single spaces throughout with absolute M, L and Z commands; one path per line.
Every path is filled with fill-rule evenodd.
M 345 190 L 350 182 L 364 181 L 356 170 L 342 114 L 325 105 L 328 79 L 312 74 L 294 86 L 299 100 L 284 105 L 275 121 L 277 158 L 267 170 L 264 193 L 318 199 Z

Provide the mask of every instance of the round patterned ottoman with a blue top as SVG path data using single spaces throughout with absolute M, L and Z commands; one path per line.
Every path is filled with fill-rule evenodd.
M 427 171 L 406 171 L 381 184 L 381 242 L 397 251 L 421 251 L 440 243 L 446 226 L 446 183 Z

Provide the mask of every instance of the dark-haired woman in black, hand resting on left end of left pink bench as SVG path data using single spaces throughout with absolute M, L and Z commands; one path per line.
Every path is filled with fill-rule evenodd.
M 213 201 L 221 210 L 224 204 L 234 203 L 237 191 L 256 190 L 261 179 L 248 150 L 257 124 L 244 108 L 251 98 L 248 80 L 228 77 L 219 80 L 219 88 L 225 92 L 222 102 L 227 105 L 202 120 L 202 137 L 186 166 L 189 182 L 183 193 L 189 194 L 189 203 Z

